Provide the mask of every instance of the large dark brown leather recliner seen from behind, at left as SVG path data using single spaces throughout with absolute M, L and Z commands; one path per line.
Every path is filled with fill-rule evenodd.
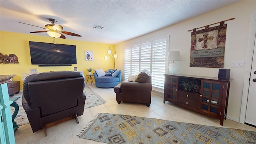
M 84 75 L 58 71 L 32 74 L 24 80 L 22 106 L 33 132 L 46 124 L 84 113 Z M 46 135 L 46 130 L 45 130 Z

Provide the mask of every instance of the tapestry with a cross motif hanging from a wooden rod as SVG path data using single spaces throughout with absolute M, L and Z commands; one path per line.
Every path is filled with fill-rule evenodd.
M 223 68 L 227 24 L 191 32 L 190 67 Z

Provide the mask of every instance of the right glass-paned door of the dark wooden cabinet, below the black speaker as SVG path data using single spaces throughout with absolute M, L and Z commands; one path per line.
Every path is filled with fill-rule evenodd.
M 220 82 L 203 80 L 201 84 L 202 111 L 218 114 Z

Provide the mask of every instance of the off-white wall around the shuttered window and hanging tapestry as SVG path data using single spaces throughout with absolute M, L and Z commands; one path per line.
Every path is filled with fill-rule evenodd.
M 176 62 L 178 64 L 176 73 L 218 77 L 218 68 L 189 67 L 191 32 L 188 32 L 188 30 L 235 18 L 225 22 L 227 24 L 227 32 L 224 68 L 230 68 L 232 61 L 244 61 L 244 65 L 246 65 L 251 15 L 254 11 L 256 11 L 256 1 L 240 1 L 144 36 L 116 44 L 115 50 L 120 55 L 120 58 L 123 58 L 126 46 L 170 35 L 169 50 L 179 50 L 181 55 L 181 61 Z M 116 65 L 118 69 L 124 71 L 124 60 L 118 59 Z M 230 78 L 234 80 L 230 83 L 227 118 L 239 122 L 245 69 L 230 69 Z

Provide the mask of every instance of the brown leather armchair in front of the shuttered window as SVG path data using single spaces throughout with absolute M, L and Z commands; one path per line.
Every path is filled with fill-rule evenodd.
M 151 76 L 148 76 L 146 82 L 128 82 L 122 81 L 120 84 L 114 87 L 116 93 L 116 101 L 118 104 L 123 102 L 136 102 L 143 103 L 146 106 L 151 104 Z

